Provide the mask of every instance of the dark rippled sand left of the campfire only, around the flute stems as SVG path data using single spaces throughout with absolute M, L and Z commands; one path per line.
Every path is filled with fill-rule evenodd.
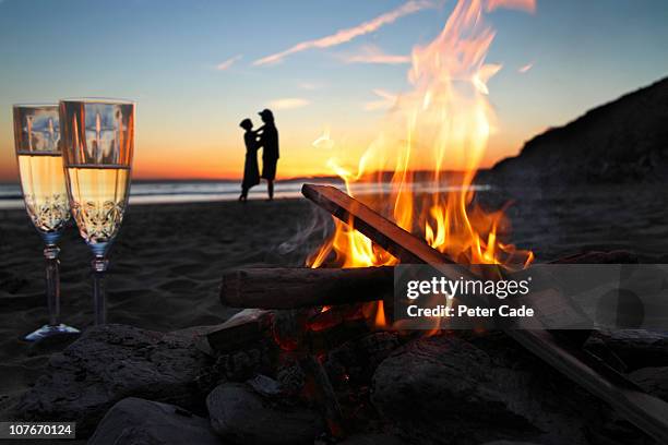
M 306 200 L 281 200 L 130 208 L 110 255 L 109 322 L 155 330 L 220 323 L 235 312 L 219 303 L 222 273 L 299 264 L 303 252 L 281 244 L 308 224 L 311 207 Z M 47 320 L 43 246 L 24 211 L 4 211 L 0 220 L 0 397 L 7 397 L 31 385 L 49 354 L 71 339 L 21 339 Z M 91 253 L 75 227 L 60 246 L 62 321 L 85 328 L 92 322 Z

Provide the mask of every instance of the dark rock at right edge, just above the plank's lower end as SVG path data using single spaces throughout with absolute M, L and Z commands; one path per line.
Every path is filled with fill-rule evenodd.
M 605 349 L 601 349 L 605 346 Z M 668 333 L 645 329 L 617 329 L 596 332 L 585 349 L 599 357 L 612 352 L 628 371 L 641 368 L 668 366 Z

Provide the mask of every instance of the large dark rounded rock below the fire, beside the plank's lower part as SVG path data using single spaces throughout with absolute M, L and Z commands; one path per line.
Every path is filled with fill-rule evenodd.
M 494 357 L 496 349 L 445 336 L 409 342 L 378 366 L 372 402 L 410 442 L 587 443 L 587 418 L 597 416 L 599 404 L 584 405 L 572 383 L 552 380 L 522 350 L 508 361 Z

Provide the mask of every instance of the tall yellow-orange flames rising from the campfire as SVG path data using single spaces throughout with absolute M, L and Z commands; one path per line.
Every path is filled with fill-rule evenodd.
M 485 61 L 494 32 L 484 14 L 501 7 L 529 12 L 536 8 L 535 0 L 460 0 L 441 34 L 413 50 L 413 89 L 397 98 L 390 122 L 359 160 L 357 172 L 334 159 L 330 165 L 350 195 L 355 184 L 374 184 L 373 194 L 358 197 L 452 260 L 522 267 L 534 256 L 500 240 L 509 230 L 504 209 L 485 212 L 474 200 L 473 181 L 494 122 L 487 82 L 501 69 Z M 393 134 L 396 129 L 398 136 Z M 425 159 L 432 166 L 429 173 L 414 168 Z M 461 171 L 453 173 L 455 168 Z M 383 171 L 393 171 L 389 190 L 383 188 Z M 415 187 L 426 179 L 429 193 Z M 349 225 L 334 222 L 332 237 L 307 260 L 311 267 L 397 263 Z M 385 324 L 382 304 L 369 318 Z

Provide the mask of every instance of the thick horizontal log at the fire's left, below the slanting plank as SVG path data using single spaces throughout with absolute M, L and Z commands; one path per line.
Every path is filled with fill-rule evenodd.
M 391 266 L 244 268 L 223 276 L 220 301 L 231 308 L 298 309 L 391 300 Z

